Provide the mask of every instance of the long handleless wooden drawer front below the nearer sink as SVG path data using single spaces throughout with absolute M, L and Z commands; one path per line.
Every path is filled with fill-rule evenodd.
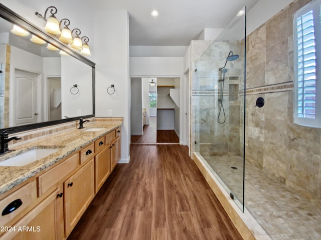
M 71 171 L 79 165 L 79 154 L 74 154 L 49 171 L 38 176 L 38 194 L 41 196 L 50 188 L 55 188 L 56 184 L 65 178 Z

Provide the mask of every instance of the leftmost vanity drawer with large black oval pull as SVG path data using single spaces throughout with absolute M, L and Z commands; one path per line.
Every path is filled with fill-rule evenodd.
M 8 226 L 14 218 L 22 217 L 36 199 L 37 183 L 34 180 L 0 200 L 0 226 Z

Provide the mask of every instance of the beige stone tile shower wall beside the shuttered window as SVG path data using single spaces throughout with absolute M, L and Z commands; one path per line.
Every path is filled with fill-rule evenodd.
M 321 129 L 293 124 L 295 0 L 247 37 L 245 158 L 305 195 L 321 198 Z M 265 105 L 255 107 L 257 97 Z

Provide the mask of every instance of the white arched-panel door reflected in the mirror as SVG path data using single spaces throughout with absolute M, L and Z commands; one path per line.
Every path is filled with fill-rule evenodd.
M 14 111 L 17 126 L 37 122 L 37 79 L 35 73 L 15 70 Z

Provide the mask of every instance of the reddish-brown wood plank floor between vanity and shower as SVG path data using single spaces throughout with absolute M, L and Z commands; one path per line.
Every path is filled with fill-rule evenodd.
M 131 145 L 68 237 L 112 240 L 242 239 L 188 148 Z

